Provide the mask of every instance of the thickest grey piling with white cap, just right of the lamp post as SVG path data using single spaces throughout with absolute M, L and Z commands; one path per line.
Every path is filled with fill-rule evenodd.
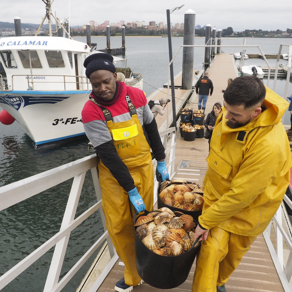
M 184 45 L 195 44 L 195 11 L 189 9 L 185 12 Z M 193 88 L 194 47 L 183 47 L 182 54 L 182 89 Z

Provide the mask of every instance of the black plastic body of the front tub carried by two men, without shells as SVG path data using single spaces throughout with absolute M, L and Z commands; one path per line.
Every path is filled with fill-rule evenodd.
M 199 244 L 175 257 L 163 256 L 148 249 L 136 232 L 135 245 L 139 276 L 148 285 L 158 289 L 172 289 L 185 282 L 201 246 Z

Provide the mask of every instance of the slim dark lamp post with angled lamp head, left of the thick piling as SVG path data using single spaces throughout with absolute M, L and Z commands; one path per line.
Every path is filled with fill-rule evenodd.
M 171 46 L 171 27 L 170 27 L 170 14 L 174 12 L 174 10 L 179 10 L 183 6 L 174 7 L 171 10 L 166 10 L 166 18 L 167 18 L 167 34 L 168 34 L 168 51 L 169 51 L 169 63 L 171 62 L 172 56 L 172 46 Z M 171 84 L 171 102 L 172 102 L 172 118 L 173 118 L 173 127 L 177 130 L 177 119 L 176 119 L 176 110 L 175 110 L 175 93 L 174 93 L 174 76 L 173 76 L 173 63 L 170 64 L 170 84 Z

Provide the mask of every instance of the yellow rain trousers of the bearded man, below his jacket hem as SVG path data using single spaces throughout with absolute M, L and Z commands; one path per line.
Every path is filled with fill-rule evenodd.
M 216 292 L 216 286 L 227 282 L 257 238 L 230 233 L 218 227 L 210 231 L 207 240 L 201 241 L 192 292 Z

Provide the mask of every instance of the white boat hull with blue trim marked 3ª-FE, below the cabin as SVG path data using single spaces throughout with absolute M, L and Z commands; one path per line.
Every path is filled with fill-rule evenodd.
M 90 91 L 1 91 L 0 106 L 15 118 L 35 148 L 85 135 L 81 110 Z

